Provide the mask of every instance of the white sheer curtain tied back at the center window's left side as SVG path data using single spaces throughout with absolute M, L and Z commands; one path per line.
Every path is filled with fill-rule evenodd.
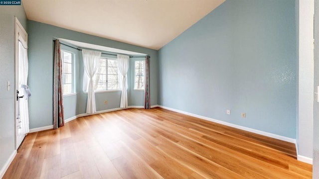
M 83 82 L 84 85 L 88 84 L 86 89 L 88 91 L 88 101 L 86 105 L 86 113 L 94 113 L 96 112 L 95 105 L 95 94 L 94 94 L 94 75 L 98 69 L 101 52 L 92 51 L 92 50 L 82 50 L 83 64 L 84 64 L 84 74 L 87 75 L 88 81 L 86 83 Z M 84 80 L 85 78 L 83 78 Z

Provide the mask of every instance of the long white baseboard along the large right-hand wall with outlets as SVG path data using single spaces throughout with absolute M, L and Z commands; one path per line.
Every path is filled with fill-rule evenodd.
M 159 107 L 161 107 L 163 109 L 168 109 L 168 110 L 171 110 L 171 111 L 179 112 L 179 113 L 182 113 L 182 114 L 190 115 L 190 116 L 193 116 L 193 117 L 197 117 L 197 118 L 200 118 L 200 119 L 208 120 L 208 121 L 211 121 L 211 122 L 216 122 L 216 123 L 223 124 L 223 125 L 226 125 L 226 126 L 234 127 L 234 128 L 237 128 L 237 129 L 245 130 L 245 131 L 248 131 L 248 132 L 252 132 L 252 133 L 256 133 L 256 134 L 260 134 L 260 135 L 264 135 L 264 136 L 267 136 L 267 137 L 271 137 L 271 138 L 275 138 L 275 139 L 279 139 L 279 140 L 282 140 L 282 141 L 291 142 L 291 143 L 296 144 L 296 139 L 292 139 L 292 138 L 289 138 L 289 137 L 280 136 L 280 135 L 277 135 L 277 134 L 272 134 L 272 133 L 269 133 L 269 132 L 264 132 L 264 131 L 260 131 L 260 130 L 256 130 L 256 129 L 252 129 L 252 128 L 248 128 L 248 127 L 244 127 L 244 126 L 240 126 L 240 125 L 237 125 L 237 124 L 232 124 L 232 123 L 220 121 L 220 120 L 217 120 L 217 119 L 212 119 L 212 118 L 209 118 L 209 117 L 205 117 L 205 116 L 201 116 L 201 115 L 197 115 L 197 114 L 181 111 L 181 110 L 178 110 L 178 109 L 173 109 L 173 108 L 166 107 L 166 106 L 159 105 Z

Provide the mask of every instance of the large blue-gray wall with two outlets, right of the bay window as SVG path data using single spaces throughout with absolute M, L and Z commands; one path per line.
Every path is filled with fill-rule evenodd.
M 295 0 L 226 0 L 159 50 L 159 104 L 296 139 L 295 18 Z

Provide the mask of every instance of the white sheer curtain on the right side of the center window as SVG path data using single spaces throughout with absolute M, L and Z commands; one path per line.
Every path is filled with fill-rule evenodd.
M 122 93 L 121 93 L 121 103 L 120 107 L 125 108 L 128 106 L 128 79 L 127 73 L 129 70 L 129 56 L 127 55 L 119 55 L 118 54 L 118 69 L 122 76 L 122 82 L 120 82 Z

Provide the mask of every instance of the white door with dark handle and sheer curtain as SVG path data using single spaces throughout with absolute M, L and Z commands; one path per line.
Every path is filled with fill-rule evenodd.
M 15 17 L 15 149 L 18 149 L 25 135 L 29 132 L 27 106 L 27 33 Z M 23 87 L 23 88 L 22 88 Z

